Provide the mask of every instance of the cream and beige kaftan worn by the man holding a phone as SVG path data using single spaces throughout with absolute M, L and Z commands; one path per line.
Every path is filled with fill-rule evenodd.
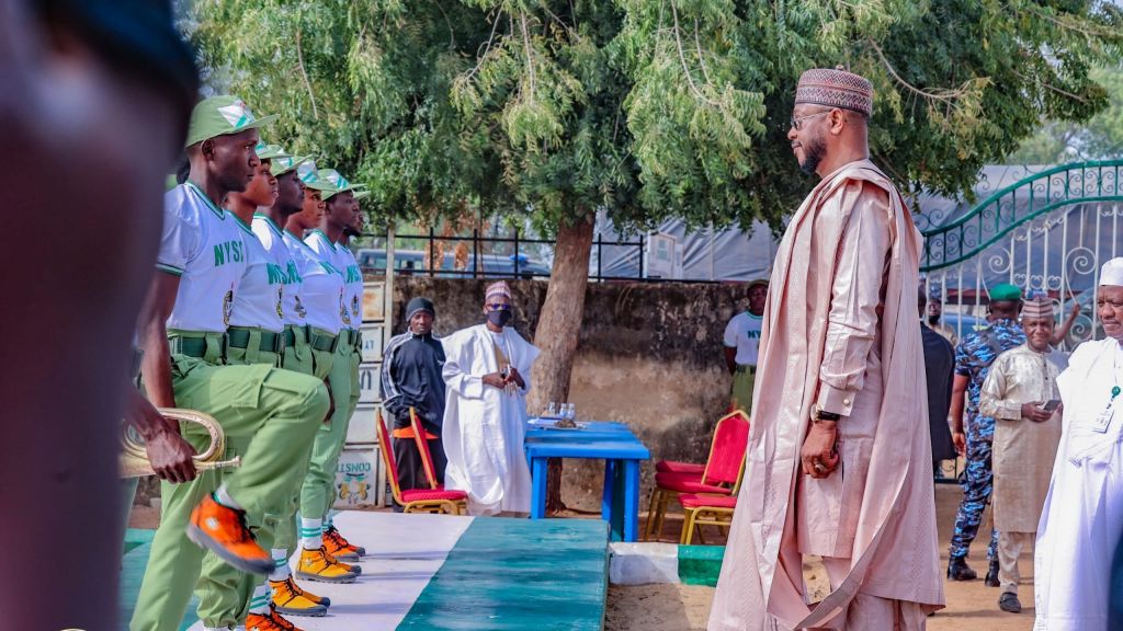
M 1059 400 L 1057 376 L 1068 367 L 1060 351 L 1026 345 L 1003 353 L 983 383 L 979 412 L 995 418 L 994 527 L 1037 532 L 1060 445 L 1060 414 L 1043 423 L 1022 419 L 1022 404 Z

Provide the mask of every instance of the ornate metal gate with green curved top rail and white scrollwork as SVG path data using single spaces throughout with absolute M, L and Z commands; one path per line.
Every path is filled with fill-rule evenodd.
M 1061 320 L 1080 305 L 1067 349 L 1102 333 L 1099 266 L 1123 250 L 1121 170 L 1123 159 L 1026 172 L 973 208 L 921 216 L 921 273 L 959 338 L 985 322 L 987 287 L 1004 282 L 1049 296 Z

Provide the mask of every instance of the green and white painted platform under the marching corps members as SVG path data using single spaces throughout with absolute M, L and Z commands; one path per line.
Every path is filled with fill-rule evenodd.
M 293 619 L 308 631 L 599 631 L 608 591 L 608 524 L 347 511 L 335 516 L 367 550 L 350 585 L 308 583 L 331 598 L 325 618 Z M 122 578 L 131 615 L 150 531 L 129 531 Z M 130 549 L 131 547 L 131 549 Z M 189 607 L 183 629 L 201 630 Z

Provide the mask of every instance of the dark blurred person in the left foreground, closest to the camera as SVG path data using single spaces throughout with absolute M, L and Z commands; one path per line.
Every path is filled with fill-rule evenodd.
M 130 338 L 198 76 L 170 3 L 154 0 L 0 0 L 0 183 L 19 217 L 0 263 L 35 262 L 10 274 L 7 291 L 19 298 L 0 314 L 3 330 L 27 338 L 8 345 L 0 368 L 0 474 L 19 481 L 0 500 L 35 515 L 49 542 L 9 546 L 0 611 L 8 629 L 112 629 L 126 397 L 141 433 L 165 429 L 129 392 Z M 65 254 L 44 256 L 46 236 Z M 164 455 L 156 466 L 176 458 Z M 0 532 L 25 541 L 27 528 L 9 519 Z

